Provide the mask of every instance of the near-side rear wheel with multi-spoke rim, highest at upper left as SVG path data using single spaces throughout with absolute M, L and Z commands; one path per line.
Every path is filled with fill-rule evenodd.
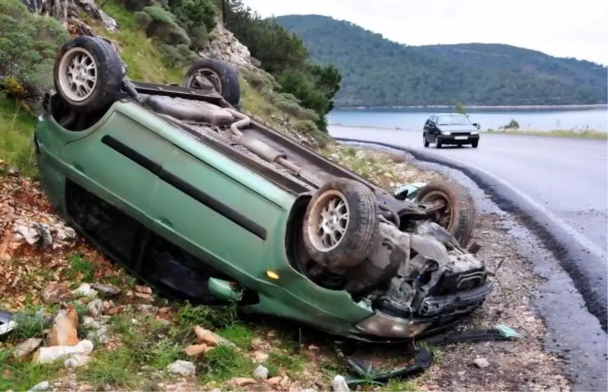
M 122 89 L 123 76 L 116 50 L 102 38 L 72 38 L 59 48 L 55 57 L 55 90 L 78 112 L 106 108 Z

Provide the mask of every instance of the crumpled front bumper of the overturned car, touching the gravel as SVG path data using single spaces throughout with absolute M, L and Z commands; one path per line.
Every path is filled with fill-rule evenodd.
M 420 309 L 412 317 L 396 317 L 376 309 L 375 314 L 356 325 L 365 334 L 389 339 L 404 339 L 416 336 L 440 318 L 457 317 L 479 308 L 492 290 L 492 282 L 486 281 L 474 289 L 424 298 Z

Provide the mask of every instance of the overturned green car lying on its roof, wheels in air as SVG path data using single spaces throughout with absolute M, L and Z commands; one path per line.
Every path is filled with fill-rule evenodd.
M 398 340 L 491 291 L 466 249 L 465 188 L 382 190 L 236 109 L 223 61 L 202 58 L 183 87 L 139 83 L 109 43 L 81 36 L 58 50 L 54 79 L 34 138 L 47 196 L 168 297 Z

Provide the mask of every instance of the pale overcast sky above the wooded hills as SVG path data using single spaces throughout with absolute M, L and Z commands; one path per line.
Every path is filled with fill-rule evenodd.
M 261 16 L 332 16 L 408 45 L 502 43 L 608 65 L 608 0 L 244 0 L 244 3 Z

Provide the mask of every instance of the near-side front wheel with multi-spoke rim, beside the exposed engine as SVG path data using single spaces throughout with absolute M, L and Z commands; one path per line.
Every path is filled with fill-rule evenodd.
M 333 272 L 358 266 L 375 245 L 378 208 L 376 196 L 361 182 L 345 178 L 326 182 L 306 207 L 302 230 L 306 252 Z

